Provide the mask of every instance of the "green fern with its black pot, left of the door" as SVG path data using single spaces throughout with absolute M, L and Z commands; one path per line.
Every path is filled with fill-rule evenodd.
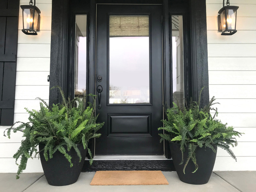
M 4 136 L 10 139 L 11 131 L 23 132 L 24 140 L 18 151 L 13 155 L 17 160 L 21 158 L 16 179 L 26 169 L 29 158 L 35 154 L 40 156 L 41 164 L 47 182 L 54 186 L 70 185 L 77 181 L 83 168 L 88 150 L 88 141 L 100 137 L 96 133 L 104 123 L 96 123 L 95 95 L 90 94 L 93 103 L 85 108 L 84 99 L 66 100 L 60 87 L 63 103 L 53 104 L 49 108 L 44 100 L 40 102 L 40 110 L 27 110 L 29 122 L 21 123 L 14 128 L 6 129 Z M 39 150 L 38 148 L 39 147 Z M 18 165 L 18 164 L 17 164 Z

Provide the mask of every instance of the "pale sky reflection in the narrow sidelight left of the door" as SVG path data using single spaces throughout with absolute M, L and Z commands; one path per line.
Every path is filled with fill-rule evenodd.
M 86 90 L 86 37 L 79 37 L 78 45 L 78 89 Z

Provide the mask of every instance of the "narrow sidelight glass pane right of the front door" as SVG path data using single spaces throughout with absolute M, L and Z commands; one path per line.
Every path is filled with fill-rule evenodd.
M 175 103 L 184 102 L 183 63 L 183 20 L 181 15 L 172 15 L 172 99 Z

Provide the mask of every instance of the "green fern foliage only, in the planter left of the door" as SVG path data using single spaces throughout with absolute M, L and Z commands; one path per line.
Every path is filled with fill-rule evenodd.
M 72 157 L 68 155 L 64 146 L 67 146 L 68 151 L 74 148 L 81 162 L 82 156 L 77 144 L 83 144 L 84 149 L 88 149 L 91 157 L 90 164 L 92 164 L 92 153 L 88 148 L 88 142 L 92 138 L 100 137 L 100 134 L 96 132 L 104 124 L 96 123 L 98 117 L 95 116 L 96 96 L 89 95 L 92 97 L 93 103 L 89 103 L 86 108 L 84 105 L 86 103 L 85 98 L 83 100 L 79 98 L 66 99 L 60 87 L 56 86 L 54 88 L 59 89 L 63 100 L 62 104 L 53 104 L 52 108 L 49 108 L 44 100 L 37 98 L 41 101 L 39 111 L 25 108 L 29 114 L 29 122 L 17 122 L 4 131 L 4 136 L 9 139 L 12 131 L 23 133 L 24 140 L 22 140 L 18 151 L 13 155 L 13 158 L 16 159 L 16 164 L 18 159 L 21 158 L 17 179 L 20 178 L 20 173 L 26 169 L 28 158 L 32 158 L 33 153 L 36 157 L 41 151 L 44 152 L 46 161 L 52 158 L 56 151 L 60 151 L 70 163 L 70 167 L 72 167 Z M 15 128 L 14 126 L 17 124 L 20 125 Z M 44 145 L 44 149 L 41 151 L 37 151 L 39 144 Z

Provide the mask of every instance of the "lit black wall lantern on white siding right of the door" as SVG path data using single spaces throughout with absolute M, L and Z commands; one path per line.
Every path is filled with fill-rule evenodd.
M 238 6 L 230 6 L 229 0 L 227 0 L 227 6 L 225 0 L 223 0 L 223 7 L 219 11 L 218 15 L 218 28 L 221 31 L 221 35 L 233 35 L 236 30 L 236 13 Z

